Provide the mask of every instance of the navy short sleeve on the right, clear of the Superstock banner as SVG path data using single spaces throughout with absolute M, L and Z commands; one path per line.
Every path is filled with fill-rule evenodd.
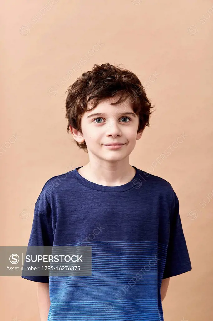
M 192 266 L 179 214 L 179 201 L 174 192 L 172 210 L 170 213 L 169 244 L 163 279 L 188 272 L 191 269 Z

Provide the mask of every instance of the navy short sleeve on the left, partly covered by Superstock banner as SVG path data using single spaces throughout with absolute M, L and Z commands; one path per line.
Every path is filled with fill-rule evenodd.
M 40 193 L 34 209 L 34 218 L 28 246 L 53 246 L 54 234 L 52 227 L 51 206 L 44 190 Z M 24 274 L 24 273 L 23 273 Z M 23 279 L 49 283 L 48 276 L 23 276 Z

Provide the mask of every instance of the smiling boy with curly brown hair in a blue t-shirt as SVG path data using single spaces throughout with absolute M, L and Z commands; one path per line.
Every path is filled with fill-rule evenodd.
M 115 65 L 68 88 L 67 131 L 89 162 L 44 184 L 28 246 L 90 246 L 92 273 L 22 276 L 39 284 L 42 321 L 163 321 L 169 278 L 192 269 L 173 188 L 129 163 L 153 107 Z

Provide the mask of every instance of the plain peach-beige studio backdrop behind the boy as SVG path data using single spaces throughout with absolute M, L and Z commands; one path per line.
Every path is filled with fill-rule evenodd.
M 9 0 L 1 15 L 1 245 L 27 246 L 44 183 L 88 161 L 66 133 L 67 87 L 123 64 L 156 108 L 130 164 L 173 186 L 193 267 L 171 278 L 165 321 L 212 320 L 212 1 Z M 38 320 L 37 283 L 0 282 L 1 320 Z

